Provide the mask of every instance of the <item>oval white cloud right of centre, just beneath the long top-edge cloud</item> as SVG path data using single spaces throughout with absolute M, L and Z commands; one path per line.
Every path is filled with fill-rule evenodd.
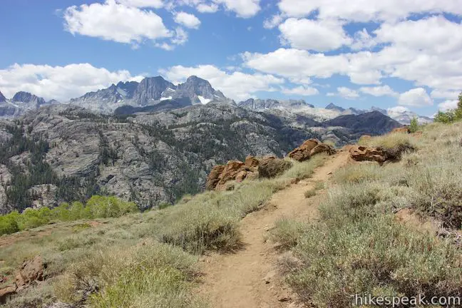
M 279 25 L 282 40 L 293 48 L 330 51 L 349 45 L 343 24 L 334 19 L 287 19 Z

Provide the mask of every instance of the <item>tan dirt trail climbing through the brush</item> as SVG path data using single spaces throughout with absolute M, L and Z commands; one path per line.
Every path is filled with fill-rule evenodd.
M 275 268 L 278 253 L 265 241 L 267 231 L 282 217 L 307 220 L 317 217 L 322 195 L 309 199 L 305 191 L 317 181 L 326 181 L 345 165 L 349 155 L 339 152 L 315 170 L 312 178 L 302 180 L 275 193 L 263 210 L 247 215 L 240 230 L 244 248 L 230 255 L 210 255 L 202 258 L 203 284 L 199 293 L 209 299 L 214 308 L 277 308 L 299 307 L 291 299 Z

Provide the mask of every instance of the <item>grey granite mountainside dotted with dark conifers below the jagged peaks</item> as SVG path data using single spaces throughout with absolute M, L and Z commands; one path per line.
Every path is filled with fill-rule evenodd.
M 53 105 L 31 111 L 19 122 L 0 121 L 0 147 L 42 140 L 43 152 L 1 157 L 1 213 L 53 207 L 91 194 L 117 195 L 142 208 L 174 202 L 203 190 L 215 165 L 243 161 L 247 155 L 282 157 L 303 140 L 319 137 L 309 128 L 293 128 L 282 119 L 223 103 L 128 118 Z M 26 197 L 19 205 L 6 190 L 19 175 L 29 174 L 28 165 L 43 177 L 21 186 Z

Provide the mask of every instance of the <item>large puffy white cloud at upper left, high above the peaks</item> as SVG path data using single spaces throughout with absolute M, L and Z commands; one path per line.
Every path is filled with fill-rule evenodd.
M 172 36 L 160 16 L 108 0 L 104 4 L 68 7 L 64 13 L 71 34 L 98 37 L 119 43 L 142 43 Z

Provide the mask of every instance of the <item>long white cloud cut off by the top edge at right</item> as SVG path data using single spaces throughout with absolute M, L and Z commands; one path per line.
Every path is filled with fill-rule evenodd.
M 416 13 L 451 12 L 462 14 L 460 0 L 280 0 L 279 9 L 288 16 L 303 17 L 318 13 L 319 19 L 348 21 L 396 21 Z

